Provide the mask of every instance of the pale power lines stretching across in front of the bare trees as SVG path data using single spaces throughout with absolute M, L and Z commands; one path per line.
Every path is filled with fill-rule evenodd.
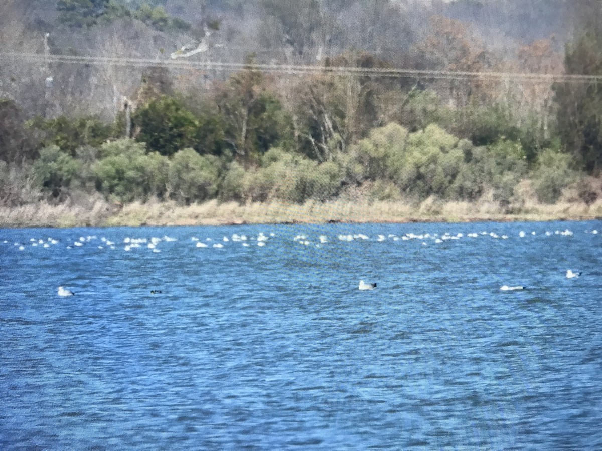
M 471 79 L 498 80 L 510 79 L 533 82 L 578 82 L 591 83 L 602 81 L 602 75 L 547 74 L 517 72 L 464 72 L 452 70 L 417 70 L 385 67 L 346 67 L 311 66 L 296 64 L 247 64 L 222 63 L 217 61 L 157 60 L 152 58 L 92 57 L 76 55 L 41 55 L 16 52 L 0 52 L 0 60 L 18 60 L 31 63 L 90 64 L 100 66 L 123 67 L 168 67 L 171 69 L 203 69 L 217 71 L 235 71 L 242 69 L 260 70 L 268 73 L 289 75 L 332 73 L 349 76 L 378 76 L 388 78 L 426 78 L 426 79 Z

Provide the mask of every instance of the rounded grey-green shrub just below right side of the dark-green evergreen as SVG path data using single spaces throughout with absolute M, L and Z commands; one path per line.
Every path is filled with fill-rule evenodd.
M 199 155 L 193 149 L 180 150 L 169 163 L 167 191 L 184 203 L 203 201 L 217 194 L 219 161 L 213 155 Z

